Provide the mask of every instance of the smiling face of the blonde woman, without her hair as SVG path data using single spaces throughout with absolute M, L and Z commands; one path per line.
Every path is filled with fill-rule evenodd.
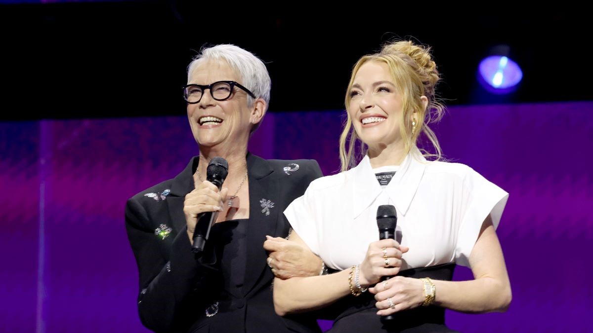
M 388 65 L 369 61 L 356 72 L 348 113 L 356 134 L 369 146 L 401 141 L 403 100 Z

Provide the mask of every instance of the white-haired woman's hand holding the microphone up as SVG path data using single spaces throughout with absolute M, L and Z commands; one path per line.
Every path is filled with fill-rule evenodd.
M 193 242 L 193 231 L 196 229 L 197 216 L 204 212 L 222 212 L 223 198 L 227 197 L 227 188 L 218 190 L 209 181 L 196 181 L 195 189 L 188 193 L 183 201 L 183 213 L 186 217 L 187 235 Z

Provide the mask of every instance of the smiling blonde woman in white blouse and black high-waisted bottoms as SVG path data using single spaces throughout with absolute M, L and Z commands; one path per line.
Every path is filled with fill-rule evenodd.
M 508 193 L 467 165 L 439 161 L 428 127 L 442 114 L 438 81 L 429 49 L 411 41 L 356 63 L 340 137 L 342 172 L 311 182 L 284 212 L 294 228 L 290 241 L 336 273 L 276 277 L 277 313 L 333 305 L 337 332 L 451 332 L 445 308 L 506 310 L 511 286 L 495 228 Z M 420 136 L 435 154 L 417 148 Z M 354 167 L 357 144 L 364 158 Z M 384 204 L 396 208 L 396 240 L 378 240 Z M 474 280 L 451 281 L 455 264 L 470 267 Z M 385 276 L 395 277 L 380 283 Z M 388 315 L 394 318 L 380 320 Z

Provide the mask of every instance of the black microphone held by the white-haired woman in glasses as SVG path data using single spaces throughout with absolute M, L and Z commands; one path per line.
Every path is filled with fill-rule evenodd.
M 215 157 L 210 160 L 208 168 L 206 168 L 206 180 L 218 187 L 218 190 L 222 188 L 222 183 L 228 175 L 228 162 L 222 157 Z M 208 241 L 208 235 L 210 234 L 210 228 L 216 221 L 218 212 L 205 212 L 202 213 L 196 223 L 196 229 L 193 230 L 193 245 L 192 252 L 195 254 L 201 254 L 204 251 L 204 245 Z

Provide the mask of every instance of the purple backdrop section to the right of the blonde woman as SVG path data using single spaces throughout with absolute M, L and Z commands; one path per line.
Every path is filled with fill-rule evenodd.
M 506 313 L 448 313 L 463 332 L 589 331 L 593 310 L 593 103 L 455 107 L 438 127 L 449 158 L 510 193 L 498 229 Z M 458 280 L 472 278 L 460 268 Z

